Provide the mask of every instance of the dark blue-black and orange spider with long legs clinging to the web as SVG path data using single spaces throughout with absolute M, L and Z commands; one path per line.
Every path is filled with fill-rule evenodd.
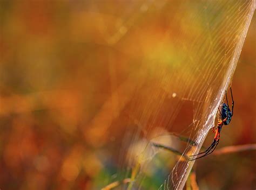
M 206 151 L 199 152 L 198 154 L 191 155 L 190 157 L 198 156 L 200 154 L 203 154 L 203 156 L 199 156 L 197 158 L 190 159 L 190 160 L 196 160 L 198 158 L 203 158 L 203 157 L 207 156 L 208 154 L 212 153 L 215 150 L 216 146 L 219 144 L 221 128 L 223 127 L 223 125 L 230 124 L 231 118 L 233 116 L 234 100 L 233 100 L 233 95 L 232 95 L 232 89 L 231 88 L 230 88 L 230 92 L 231 92 L 231 97 L 232 97 L 232 111 L 228 107 L 227 91 L 226 91 L 227 104 L 223 103 L 219 106 L 219 108 L 218 108 L 218 110 L 219 110 L 219 114 L 218 114 L 219 121 L 218 121 L 217 126 L 212 129 L 212 131 L 215 132 L 213 143 L 211 144 L 211 146 L 208 147 L 208 149 L 206 149 Z

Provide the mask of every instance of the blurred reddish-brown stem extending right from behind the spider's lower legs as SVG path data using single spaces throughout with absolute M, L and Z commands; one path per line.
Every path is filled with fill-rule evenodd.
M 228 154 L 228 153 L 248 151 L 248 150 L 256 150 L 256 144 L 226 146 L 221 149 L 215 150 L 212 154 L 220 155 L 220 154 Z

